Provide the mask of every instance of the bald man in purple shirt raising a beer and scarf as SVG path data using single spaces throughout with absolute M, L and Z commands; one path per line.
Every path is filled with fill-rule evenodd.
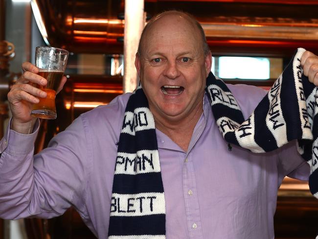
M 317 84 L 318 57 L 306 52 L 301 62 L 304 73 Z M 155 210 L 152 197 L 121 198 L 120 204 L 112 197 L 114 168 L 132 166 L 128 157 L 122 162 L 116 157 L 121 130 L 131 125 L 125 109 L 133 95 L 119 96 L 81 115 L 33 157 L 39 121 L 29 116 L 30 104 L 45 93 L 28 82 L 46 81 L 30 63 L 23 63 L 23 69 L 8 94 L 13 117 L 0 143 L 0 216 L 53 217 L 74 206 L 96 236 L 107 238 L 117 227 L 109 228 L 111 211 L 134 216 Z M 151 20 L 140 40 L 136 69 L 156 125 L 165 237 L 274 238 L 277 190 L 286 175 L 308 180 L 309 166 L 296 152 L 295 142 L 266 154 L 237 146 L 228 151 L 204 94 L 211 53 L 200 25 L 176 11 Z M 245 118 L 266 94 L 251 86 L 228 87 Z M 145 217 L 132 230 L 144 236 L 134 238 L 164 238 L 138 234 L 147 230 L 147 220 L 141 218 Z

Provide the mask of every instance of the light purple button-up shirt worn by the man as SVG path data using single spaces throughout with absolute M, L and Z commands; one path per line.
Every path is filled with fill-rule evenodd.
M 265 92 L 229 86 L 248 117 Z M 120 128 L 130 94 L 81 115 L 33 157 L 37 130 L 7 130 L 0 142 L 0 216 L 53 217 L 74 206 L 107 238 Z M 187 152 L 159 130 L 167 239 L 273 239 L 277 190 L 285 175 L 308 180 L 295 142 L 255 154 L 227 143 L 205 96 Z M 137 205 L 130 205 L 137 207 Z M 140 225 L 142 226 L 142 225 Z

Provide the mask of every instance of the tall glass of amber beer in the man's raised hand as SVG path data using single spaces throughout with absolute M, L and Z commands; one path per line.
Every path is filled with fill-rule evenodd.
M 46 98 L 33 104 L 31 115 L 42 119 L 56 119 L 55 95 L 61 83 L 66 64 L 68 51 L 60 48 L 37 47 L 35 49 L 35 66 L 39 68 L 39 75 L 47 80 L 46 86 L 36 85 L 37 88 L 45 91 Z

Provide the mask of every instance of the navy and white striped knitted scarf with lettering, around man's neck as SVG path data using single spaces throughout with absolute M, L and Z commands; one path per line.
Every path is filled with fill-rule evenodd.
M 226 84 L 212 73 L 205 91 L 228 143 L 269 152 L 298 140 L 298 151 L 311 167 L 310 191 L 318 198 L 318 92 L 302 73 L 304 51 L 298 48 L 247 120 Z M 128 100 L 119 137 L 108 235 L 109 239 L 165 239 L 155 121 L 140 85 Z

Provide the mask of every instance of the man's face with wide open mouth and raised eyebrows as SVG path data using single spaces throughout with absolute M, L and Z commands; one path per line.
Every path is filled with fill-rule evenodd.
M 202 113 L 211 55 L 199 30 L 177 15 L 157 20 L 144 38 L 136 68 L 155 119 L 178 122 Z

